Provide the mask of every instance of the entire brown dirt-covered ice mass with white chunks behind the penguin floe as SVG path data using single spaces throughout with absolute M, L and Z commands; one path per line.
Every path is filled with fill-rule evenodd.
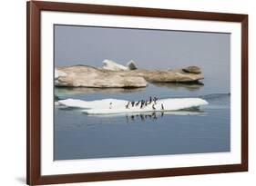
M 130 61 L 127 66 L 110 60 L 103 61 L 102 68 L 78 64 L 55 69 L 56 86 L 94 88 L 138 88 L 148 83 L 196 83 L 203 79 L 200 67 L 183 69 L 138 69 Z

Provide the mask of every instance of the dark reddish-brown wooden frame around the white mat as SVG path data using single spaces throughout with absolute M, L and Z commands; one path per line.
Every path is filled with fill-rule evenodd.
M 38 185 L 81 181 L 110 181 L 231 171 L 248 171 L 248 15 L 37 1 L 27 2 L 26 8 L 27 184 Z M 42 176 L 40 174 L 40 12 L 43 10 L 241 23 L 241 164 Z

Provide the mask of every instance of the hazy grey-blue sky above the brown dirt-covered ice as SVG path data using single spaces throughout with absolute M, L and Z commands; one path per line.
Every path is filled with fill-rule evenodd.
M 205 80 L 230 90 L 230 34 L 56 24 L 55 65 L 102 66 L 133 60 L 141 69 L 200 66 Z

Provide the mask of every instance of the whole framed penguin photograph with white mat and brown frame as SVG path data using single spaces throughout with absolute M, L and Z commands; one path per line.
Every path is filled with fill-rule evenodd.
M 27 184 L 248 170 L 248 15 L 27 2 Z

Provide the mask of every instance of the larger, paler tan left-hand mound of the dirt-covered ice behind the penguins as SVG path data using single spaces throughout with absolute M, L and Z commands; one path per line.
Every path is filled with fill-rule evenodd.
M 129 71 L 112 71 L 87 65 L 59 67 L 56 70 L 62 72 L 56 78 L 55 83 L 57 86 L 136 88 L 148 85 L 143 77 L 123 75 L 121 73 Z

